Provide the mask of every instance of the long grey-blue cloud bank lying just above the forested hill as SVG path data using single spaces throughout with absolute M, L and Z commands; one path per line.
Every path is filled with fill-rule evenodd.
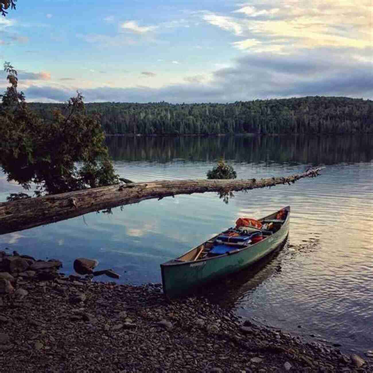
M 184 83 L 151 87 L 79 88 L 86 102 L 234 102 L 253 99 L 333 95 L 373 98 L 373 48 L 316 48 L 291 54 L 247 53 L 212 79 L 189 76 Z M 346 58 L 346 56 L 349 56 Z M 360 57 L 360 58 L 358 58 Z M 366 58 L 361 58 L 366 57 Z M 32 85 L 23 90 L 27 100 L 66 101 L 76 88 Z

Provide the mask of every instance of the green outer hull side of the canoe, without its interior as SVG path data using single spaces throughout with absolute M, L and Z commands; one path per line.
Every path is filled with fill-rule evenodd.
M 290 212 L 289 206 L 285 209 Z M 281 228 L 273 235 L 234 253 L 196 261 L 170 260 L 161 264 L 164 294 L 167 298 L 178 297 L 191 292 L 196 286 L 251 266 L 285 241 L 289 232 L 289 217 L 288 213 Z

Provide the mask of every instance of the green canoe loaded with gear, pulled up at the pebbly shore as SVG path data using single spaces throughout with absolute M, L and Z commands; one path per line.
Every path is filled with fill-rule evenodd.
M 285 211 L 285 217 L 276 219 L 281 211 Z M 266 229 L 246 230 L 241 227 L 241 231 L 235 230 L 239 232 L 238 236 L 227 238 L 227 232 L 232 232 L 231 228 L 180 257 L 161 264 L 164 295 L 174 298 L 187 294 L 196 286 L 244 269 L 272 253 L 285 241 L 289 232 L 289 219 L 290 206 L 286 206 L 258 219 Z M 253 235 L 260 235 L 260 241 L 253 238 Z M 241 238 L 242 242 L 239 242 Z

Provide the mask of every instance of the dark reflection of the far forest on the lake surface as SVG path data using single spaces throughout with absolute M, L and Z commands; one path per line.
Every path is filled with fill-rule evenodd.
M 106 138 L 115 160 L 334 164 L 370 162 L 373 135 Z

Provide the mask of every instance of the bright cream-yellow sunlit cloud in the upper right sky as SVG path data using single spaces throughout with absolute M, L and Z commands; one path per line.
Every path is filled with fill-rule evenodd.
M 371 0 L 254 0 L 225 16 L 205 12 L 202 18 L 244 38 L 232 43 L 240 50 L 289 53 L 294 48 L 372 46 Z M 278 40 L 281 40 L 279 43 Z

